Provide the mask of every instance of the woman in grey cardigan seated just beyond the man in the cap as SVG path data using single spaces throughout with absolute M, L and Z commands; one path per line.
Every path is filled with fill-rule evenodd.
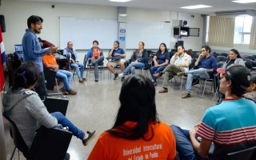
M 228 66 L 239 64 L 242 66 L 246 66 L 245 62 L 243 62 L 241 55 L 239 54 L 238 50 L 231 49 L 229 53 L 229 57 L 226 58 L 226 62 L 223 64 L 222 69 L 226 69 Z M 219 88 L 219 82 L 218 82 Z M 218 103 L 222 102 L 222 99 L 225 98 L 225 95 L 218 91 Z

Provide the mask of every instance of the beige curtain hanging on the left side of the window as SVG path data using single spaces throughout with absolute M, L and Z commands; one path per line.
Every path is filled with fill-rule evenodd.
M 208 45 L 233 47 L 234 21 L 235 18 L 210 16 Z

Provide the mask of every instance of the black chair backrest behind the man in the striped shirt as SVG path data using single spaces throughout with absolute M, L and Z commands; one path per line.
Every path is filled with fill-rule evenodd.
M 255 160 L 256 146 L 226 154 L 226 160 Z

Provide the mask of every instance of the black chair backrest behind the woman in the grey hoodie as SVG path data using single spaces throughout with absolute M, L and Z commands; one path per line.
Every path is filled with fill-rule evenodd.
M 22 138 L 22 134 L 20 134 L 18 131 L 18 127 L 6 114 L 2 115 L 8 122 L 10 122 L 10 136 L 14 139 L 14 145 L 18 148 L 18 150 L 22 151 L 22 154 L 25 158 L 28 158 L 29 149 L 26 146 L 24 139 Z

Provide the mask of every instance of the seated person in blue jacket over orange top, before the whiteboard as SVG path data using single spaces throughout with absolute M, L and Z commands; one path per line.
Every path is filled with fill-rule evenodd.
M 94 66 L 95 82 L 98 82 L 98 65 L 102 65 L 104 61 L 103 52 L 98 48 L 98 41 L 94 40 L 93 47 L 87 53 L 89 66 Z

